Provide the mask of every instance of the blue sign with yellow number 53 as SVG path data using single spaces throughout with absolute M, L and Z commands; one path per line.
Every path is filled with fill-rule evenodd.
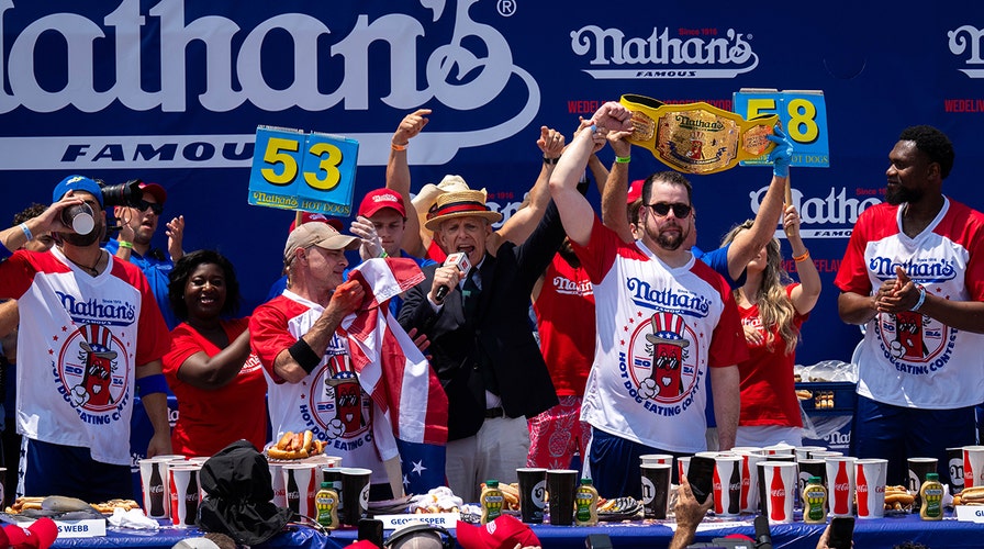
M 337 135 L 259 126 L 249 203 L 318 212 L 351 213 L 359 142 Z

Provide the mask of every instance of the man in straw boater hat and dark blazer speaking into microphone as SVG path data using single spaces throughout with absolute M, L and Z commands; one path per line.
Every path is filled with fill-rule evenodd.
M 431 340 L 431 361 L 448 395 L 448 485 L 478 501 L 487 479 L 514 482 L 529 448 L 526 418 L 557 404 L 543 355 L 529 330 L 529 292 L 563 240 L 557 209 L 522 245 L 504 243 L 495 256 L 485 238 L 502 215 L 485 205 L 485 192 L 446 192 L 426 228 L 439 228 L 451 256 L 424 269 L 400 311 L 405 329 Z M 455 254 L 467 257 L 462 272 Z

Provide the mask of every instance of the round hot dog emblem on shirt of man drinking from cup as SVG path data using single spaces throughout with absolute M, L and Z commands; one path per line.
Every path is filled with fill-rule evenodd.
M 59 392 L 80 416 L 82 411 L 118 410 L 126 402 L 131 368 L 122 349 L 112 330 L 99 324 L 85 324 L 65 340 L 56 363 Z

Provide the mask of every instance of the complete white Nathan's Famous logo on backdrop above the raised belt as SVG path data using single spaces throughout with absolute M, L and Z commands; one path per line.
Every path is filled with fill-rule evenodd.
M 669 27 L 627 37 L 619 29 L 585 25 L 571 32 L 571 51 L 589 57 L 584 72 L 595 79 L 734 78 L 759 65 L 751 38 L 734 29 L 680 29 L 673 36 Z

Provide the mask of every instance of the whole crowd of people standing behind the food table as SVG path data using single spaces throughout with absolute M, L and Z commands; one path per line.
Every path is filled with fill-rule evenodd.
M 801 444 L 793 365 L 821 283 L 783 199 L 793 148 L 780 127 L 756 217 L 702 251 L 686 177 L 629 184 L 631 112 L 619 103 L 570 137 L 539 130 L 539 173 L 497 229 L 485 190 L 460 176 L 413 192 L 406 150 L 429 115 L 399 124 L 387 184 L 360 200 L 350 234 L 321 215 L 291 225 L 283 278 L 243 316 L 234 266 L 214 250 L 186 253 L 183 217 L 166 223 L 166 250 L 152 248 L 167 202 L 159 184 L 108 203 L 99 181 L 72 176 L 51 205 L 19 215 L 0 233 L 3 381 L 16 388 L 3 444 L 4 459 L 20 457 L 18 493 L 130 496 L 121 440 L 139 396 L 154 427 L 147 456 L 210 456 L 238 439 L 262 449 L 310 430 L 345 464 L 372 470 L 373 498 L 399 496 L 425 467 L 404 453 L 406 432 L 365 373 L 393 352 L 426 356 L 413 376 L 443 389 L 403 406 L 427 407 L 416 412 L 433 428 L 418 440 L 439 456 L 427 482 L 466 501 L 487 479 L 579 459 L 602 496 L 638 497 L 640 455 Z M 605 147 L 611 167 L 597 156 Z M 944 468 L 947 448 L 975 442 L 984 217 L 942 193 L 953 149 L 938 130 L 905 130 L 888 159 L 886 203 L 858 220 L 836 285 L 842 320 L 865 326 L 852 451 L 890 459 L 888 482 L 902 483 L 907 457 Z M 94 220 L 87 234 L 63 216 L 79 205 Z M 110 211 L 121 231 L 107 243 Z M 773 237 L 780 224 L 796 282 Z M 377 267 L 351 267 L 356 254 Z M 396 291 L 361 272 L 380 265 Z M 359 315 L 374 307 L 393 321 L 378 329 L 413 349 L 361 349 Z

